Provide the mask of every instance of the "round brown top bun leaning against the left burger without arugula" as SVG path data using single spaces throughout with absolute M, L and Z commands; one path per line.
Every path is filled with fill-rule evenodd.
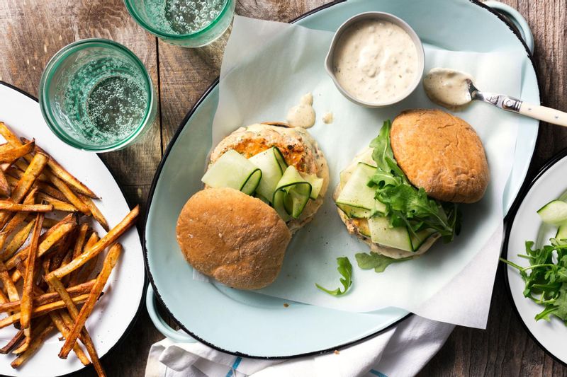
M 176 233 L 193 268 L 237 289 L 274 282 L 291 240 L 273 208 L 231 188 L 209 188 L 189 198 Z

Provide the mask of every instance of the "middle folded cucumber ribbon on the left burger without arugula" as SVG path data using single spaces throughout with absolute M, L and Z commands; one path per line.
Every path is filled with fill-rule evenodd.
M 248 158 L 248 161 L 262 170 L 262 180 L 256 189 L 259 195 L 271 199 L 283 172 L 286 170 L 286 161 L 276 146 Z

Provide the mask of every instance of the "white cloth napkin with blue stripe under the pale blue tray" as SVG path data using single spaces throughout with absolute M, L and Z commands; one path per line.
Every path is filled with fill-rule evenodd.
M 146 377 L 414 376 L 439 351 L 454 325 L 412 315 L 399 325 L 335 353 L 291 360 L 247 359 L 205 344 L 164 339 L 152 345 Z

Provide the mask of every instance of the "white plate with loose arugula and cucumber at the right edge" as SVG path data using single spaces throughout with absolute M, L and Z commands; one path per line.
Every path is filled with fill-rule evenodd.
M 557 199 L 567 190 L 567 150 L 554 157 L 546 166 L 541 168 L 539 174 L 532 182 L 524 199 L 514 214 L 510 214 L 510 224 L 505 238 L 503 257 L 520 266 L 527 266 L 527 260 L 518 257 L 524 253 L 525 241 L 533 240 L 536 247 L 549 243 L 549 238 L 555 236 L 555 226 L 548 226 L 541 222 L 538 209 L 547 202 Z M 505 272 L 512 302 L 524 326 L 534 340 L 563 364 L 567 363 L 567 326 L 562 320 L 551 316 L 551 322 L 539 320 L 534 317 L 543 310 L 543 306 L 525 298 L 524 281 L 517 269 L 507 267 Z

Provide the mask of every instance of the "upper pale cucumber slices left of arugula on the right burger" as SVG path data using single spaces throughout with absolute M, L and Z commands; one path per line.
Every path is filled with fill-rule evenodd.
M 376 167 L 358 163 L 335 201 L 350 218 L 368 218 L 376 212 L 384 213 L 386 206 L 374 199 L 376 190 L 368 186 Z

